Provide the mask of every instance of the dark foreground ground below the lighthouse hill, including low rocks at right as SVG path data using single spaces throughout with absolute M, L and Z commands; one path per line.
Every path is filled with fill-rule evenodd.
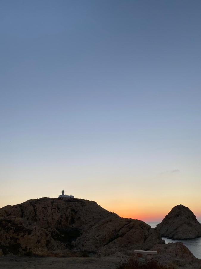
M 25 257 L 1 256 L 0 269 L 200 269 L 201 260 L 182 243 L 157 244 L 152 250 L 158 254 L 147 255 L 116 253 L 105 257 Z

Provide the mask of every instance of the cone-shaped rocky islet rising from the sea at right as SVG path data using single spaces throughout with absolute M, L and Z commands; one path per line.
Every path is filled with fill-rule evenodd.
M 166 215 L 157 230 L 162 237 L 173 240 L 195 239 L 201 237 L 201 224 L 193 212 L 183 205 L 177 205 Z

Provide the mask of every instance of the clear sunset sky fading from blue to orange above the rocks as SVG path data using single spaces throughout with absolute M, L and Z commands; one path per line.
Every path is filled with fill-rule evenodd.
M 0 207 L 66 195 L 201 219 L 201 2 L 0 1 Z

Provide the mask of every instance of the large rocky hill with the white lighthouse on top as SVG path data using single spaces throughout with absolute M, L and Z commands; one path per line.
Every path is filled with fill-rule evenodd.
M 120 218 L 93 201 L 28 200 L 0 209 L 0 255 L 108 255 L 164 243 L 143 221 Z

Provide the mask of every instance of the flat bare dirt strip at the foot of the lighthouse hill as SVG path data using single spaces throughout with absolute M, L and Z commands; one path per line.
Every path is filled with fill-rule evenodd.
M 0 257 L 0 269 L 116 269 L 120 264 L 117 257 Z

